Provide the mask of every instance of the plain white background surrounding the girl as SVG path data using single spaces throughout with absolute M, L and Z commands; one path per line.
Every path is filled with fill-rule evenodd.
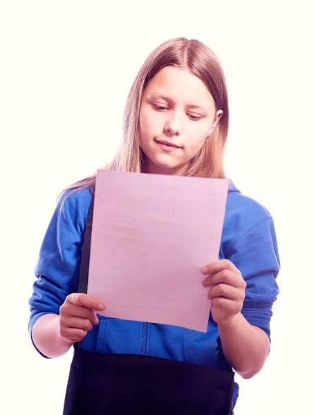
M 1 414 L 61 414 L 71 353 L 28 338 L 41 239 L 68 184 L 102 167 L 147 55 L 177 36 L 218 55 L 230 96 L 225 169 L 275 217 L 281 294 L 264 369 L 237 415 L 313 410 L 311 1 L 0 0 Z

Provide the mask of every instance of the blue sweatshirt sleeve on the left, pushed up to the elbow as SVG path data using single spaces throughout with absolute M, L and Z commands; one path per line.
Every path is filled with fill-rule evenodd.
M 50 220 L 35 266 L 37 279 L 28 301 L 28 331 L 32 342 L 33 326 L 39 317 L 49 313 L 59 314 L 66 296 L 77 291 L 84 237 L 82 223 L 84 219 L 80 221 L 76 194 L 64 194 Z

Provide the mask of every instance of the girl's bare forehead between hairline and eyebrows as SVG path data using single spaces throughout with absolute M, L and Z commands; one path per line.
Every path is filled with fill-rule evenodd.
M 145 88 L 151 98 L 158 95 L 168 97 L 174 102 L 212 107 L 212 95 L 201 79 L 190 71 L 166 66 L 151 79 Z

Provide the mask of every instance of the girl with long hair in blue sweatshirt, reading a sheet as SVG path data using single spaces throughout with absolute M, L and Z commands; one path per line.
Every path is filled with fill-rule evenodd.
M 225 178 L 228 117 L 225 77 L 212 50 L 197 40 L 169 40 L 136 76 L 122 146 L 104 169 Z M 86 295 L 94 191 L 95 175 L 59 198 L 29 302 L 29 331 L 42 356 L 74 346 L 64 415 L 232 414 L 234 371 L 252 378 L 270 349 L 279 293 L 272 216 L 231 182 L 219 260 L 199 264 L 203 285 L 212 286 L 201 333 L 98 315 L 105 302 Z

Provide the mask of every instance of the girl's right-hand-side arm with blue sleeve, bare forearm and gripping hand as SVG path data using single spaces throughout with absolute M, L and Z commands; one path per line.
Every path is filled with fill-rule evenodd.
M 211 287 L 211 312 L 219 328 L 223 353 L 243 378 L 255 376 L 268 356 L 271 309 L 279 293 L 275 280 L 278 272 L 271 219 L 234 243 L 228 259 L 203 270 L 208 275 L 204 285 Z

